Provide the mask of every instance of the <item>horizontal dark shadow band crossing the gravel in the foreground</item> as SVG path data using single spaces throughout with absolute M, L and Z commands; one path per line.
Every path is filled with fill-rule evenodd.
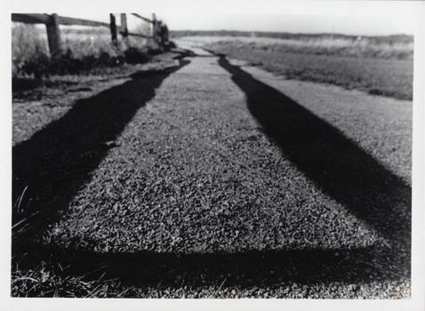
M 223 280 L 226 280 L 226 286 L 244 289 L 291 283 L 399 282 L 408 277 L 398 275 L 397 269 L 388 270 L 385 264 L 380 267 L 357 260 L 391 256 L 388 248 L 375 245 L 352 250 L 248 250 L 181 254 L 156 251 L 96 253 L 73 247 L 47 247 L 39 249 L 38 255 L 66 267 L 63 271 L 57 269 L 58 275 L 84 275 L 85 281 L 100 277 L 116 279 L 124 289 L 148 286 L 179 289 L 182 282 L 199 288 L 219 285 Z

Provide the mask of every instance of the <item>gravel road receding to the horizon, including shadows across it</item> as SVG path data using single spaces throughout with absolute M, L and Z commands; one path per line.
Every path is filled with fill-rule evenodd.
M 44 187 L 78 189 L 49 243 L 134 297 L 408 297 L 412 102 L 180 45 L 15 147 L 74 126 L 45 151 Z

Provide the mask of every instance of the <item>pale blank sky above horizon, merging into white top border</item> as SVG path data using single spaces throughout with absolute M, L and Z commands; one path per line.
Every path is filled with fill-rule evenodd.
M 93 6 L 94 3 L 94 6 Z M 156 0 L 130 2 L 112 12 L 152 12 L 170 29 L 247 30 L 293 33 L 340 33 L 382 36 L 413 34 L 418 25 L 419 2 L 398 1 L 277 1 L 277 0 Z M 63 9 L 63 10 L 62 10 Z M 17 12 L 17 11 L 15 11 Z M 35 11 L 33 11 L 35 12 Z M 108 1 L 79 6 L 60 6 L 60 15 L 108 21 Z M 129 19 L 132 26 L 135 19 Z

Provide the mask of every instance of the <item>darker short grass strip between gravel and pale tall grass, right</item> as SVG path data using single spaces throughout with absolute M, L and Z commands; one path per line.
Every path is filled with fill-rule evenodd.
M 413 60 L 285 52 L 283 48 L 240 42 L 208 44 L 207 48 L 289 79 L 334 84 L 399 100 L 413 99 Z

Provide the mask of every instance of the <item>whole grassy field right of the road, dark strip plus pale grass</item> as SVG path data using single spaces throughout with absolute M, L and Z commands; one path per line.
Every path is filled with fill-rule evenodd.
M 335 84 L 401 100 L 413 98 L 412 42 L 220 36 L 183 39 L 288 79 Z

